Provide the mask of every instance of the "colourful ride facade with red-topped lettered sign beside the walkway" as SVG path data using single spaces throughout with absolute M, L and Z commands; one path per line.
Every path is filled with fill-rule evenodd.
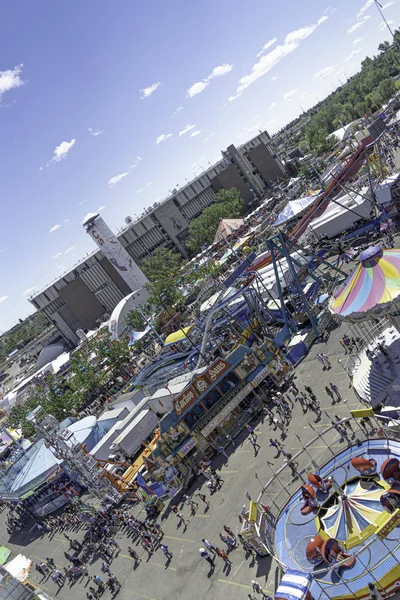
M 268 346 L 267 346 L 268 344 Z M 158 447 L 173 464 L 197 468 L 205 455 L 235 437 L 263 404 L 258 386 L 279 383 L 291 365 L 272 342 L 239 346 L 195 375 L 174 399 L 174 410 L 160 421 Z M 185 469 L 183 469 L 185 470 Z

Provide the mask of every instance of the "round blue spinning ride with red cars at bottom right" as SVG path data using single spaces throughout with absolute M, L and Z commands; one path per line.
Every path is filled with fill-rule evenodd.
M 303 483 L 276 519 L 270 511 L 269 523 L 275 522 L 265 544 L 284 578 L 297 573 L 303 586 L 307 581 L 302 597 L 368 598 L 371 583 L 384 596 L 397 591 L 399 459 L 400 443 L 395 440 L 359 441 L 332 456 L 318 472 L 299 474 Z M 284 597 L 289 596 L 278 588 L 276 598 Z

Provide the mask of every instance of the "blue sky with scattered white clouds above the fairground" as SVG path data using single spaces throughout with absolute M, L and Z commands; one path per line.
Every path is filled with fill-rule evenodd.
M 400 0 L 382 0 L 399 24 Z M 373 0 L 19 0 L 0 41 L 0 331 L 116 231 L 389 39 Z

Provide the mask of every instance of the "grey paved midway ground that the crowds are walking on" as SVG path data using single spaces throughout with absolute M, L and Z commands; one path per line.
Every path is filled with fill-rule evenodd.
M 286 449 L 290 449 L 293 453 L 301 449 L 297 436 L 302 443 L 305 443 L 314 438 L 317 432 L 322 432 L 326 428 L 333 413 L 348 416 L 349 407 L 354 408 L 359 405 L 353 390 L 349 388 L 346 374 L 337 362 L 338 358 L 343 358 L 343 350 L 339 344 L 339 339 L 345 331 L 343 327 L 337 328 L 331 333 L 328 343 L 315 344 L 310 354 L 296 369 L 298 387 L 302 389 L 304 385 L 310 385 L 319 397 L 321 406 L 328 410 L 329 414 L 323 412 L 321 421 L 315 422 L 313 413 L 303 416 L 301 408 L 295 407 L 284 441 Z M 315 358 L 316 354 L 321 351 L 327 352 L 331 357 L 332 369 L 329 371 L 323 371 Z M 331 399 L 324 391 L 325 385 L 331 381 L 338 385 L 343 396 L 348 399 L 347 403 L 341 402 L 332 408 Z M 189 507 L 184 507 L 183 512 L 190 520 L 186 531 L 183 531 L 182 527 L 177 527 L 176 517 L 173 514 L 163 520 L 164 543 L 169 546 L 174 555 L 169 565 L 166 565 L 164 555 L 160 550 L 148 559 L 147 553 L 139 546 L 138 551 L 143 554 L 143 561 L 134 569 L 134 561 L 129 557 L 127 551 L 128 545 L 132 545 L 132 542 L 123 534 L 117 535 L 121 552 L 114 559 L 111 570 L 123 584 L 118 595 L 119 600 L 128 598 L 144 598 L 145 600 L 214 598 L 222 600 L 227 597 L 231 600 L 239 600 L 247 598 L 251 591 L 250 581 L 252 579 L 257 579 L 271 595 L 273 594 L 280 577 L 278 565 L 274 560 L 263 558 L 252 562 L 252 559 L 249 558 L 246 561 L 242 550 L 237 549 L 231 553 L 232 568 L 229 571 L 224 570 L 223 561 L 218 559 L 215 570 L 210 572 L 208 563 L 199 556 L 199 548 L 202 546 L 201 539 L 204 537 L 219 547 L 223 546 L 218 533 L 222 530 L 223 524 L 236 530 L 239 524 L 237 515 L 243 504 L 248 504 L 244 496 L 245 491 L 248 490 L 253 498 L 257 498 L 261 491 L 261 485 L 265 484 L 272 472 L 282 464 L 281 459 L 274 460 L 274 452 L 268 446 L 269 438 L 277 437 L 279 432 L 270 431 L 268 420 L 259 423 L 256 430 L 261 446 L 256 457 L 243 433 L 242 437 L 238 438 L 238 447 L 228 449 L 228 453 L 231 450 L 229 460 L 222 462 L 222 457 L 216 460 L 217 468 L 220 469 L 225 483 L 220 491 L 211 497 L 210 510 L 204 511 L 201 506 L 197 514 L 190 517 Z M 333 449 L 339 449 L 338 438 L 339 436 L 335 432 L 327 434 L 327 442 Z M 316 441 L 309 451 L 310 456 L 317 461 L 328 458 L 329 452 L 321 440 Z M 307 461 L 309 462 L 309 458 L 304 454 L 300 461 L 301 466 L 306 468 Z M 258 475 L 259 480 L 256 479 L 255 474 Z M 283 474 L 284 484 L 289 482 L 289 478 L 289 473 Z M 198 488 L 202 487 L 202 491 L 207 490 L 203 478 L 197 485 Z M 268 497 L 264 495 L 264 503 L 271 504 L 278 498 L 279 502 L 282 501 L 285 492 L 280 484 L 276 485 L 276 488 L 272 488 L 271 495 Z M 298 482 L 295 485 L 297 487 Z M 208 494 L 208 491 L 206 493 Z M 132 512 L 139 514 L 140 509 L 134 508 Z M 4 519 L 5 514 L 2 513 L 0 515 L 1 525 L 3 525 Z M 33 532 L 27 532 L 24 541 L 25 547 L 21 548 L 10 543 L 4 527 L 1 532 L 0 543 L 10 547 L 13 555 L 22 551 L 34 561 L 51 556 L 57 565 L 63 567 L 67 564 L 64 552 L 68 549 L 68 543 L 60 534 L 56 534 L 53 540 L 49 540 L 48 536 L 42 539 L 32 539 Z M 82 532 L 78 532 L 76 537 L 80 539 Z M 90 574 L 100 574 L 99 567 L 100 562 L 90 565 Z M 40 584 L 50 596 L 60 600 L 70 600 L 72 597 L 81 600 L 86 597 L 88 587 L 85 588 L 84 583 L 77 583 L 72 589 L 65 586 L 58 590 L 51 580 L 40 583 L 41 576 L 36 571 L 32 571 L 31 579 L 34 583 Z M 108 599 L 111 596 L 107 591 L 103 597 Z

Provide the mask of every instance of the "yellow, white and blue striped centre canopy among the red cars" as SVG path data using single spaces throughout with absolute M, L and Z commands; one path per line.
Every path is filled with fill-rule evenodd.
M 382 512 L 380 497 L 384 490 L 375 483 L 366 486 L 356 481 L 346 484 L 343 491 L 344 496 L 338 497 L 338 503 L 328 508 L 321 522 L 325 533 L 346 542 L 376 523 Z

